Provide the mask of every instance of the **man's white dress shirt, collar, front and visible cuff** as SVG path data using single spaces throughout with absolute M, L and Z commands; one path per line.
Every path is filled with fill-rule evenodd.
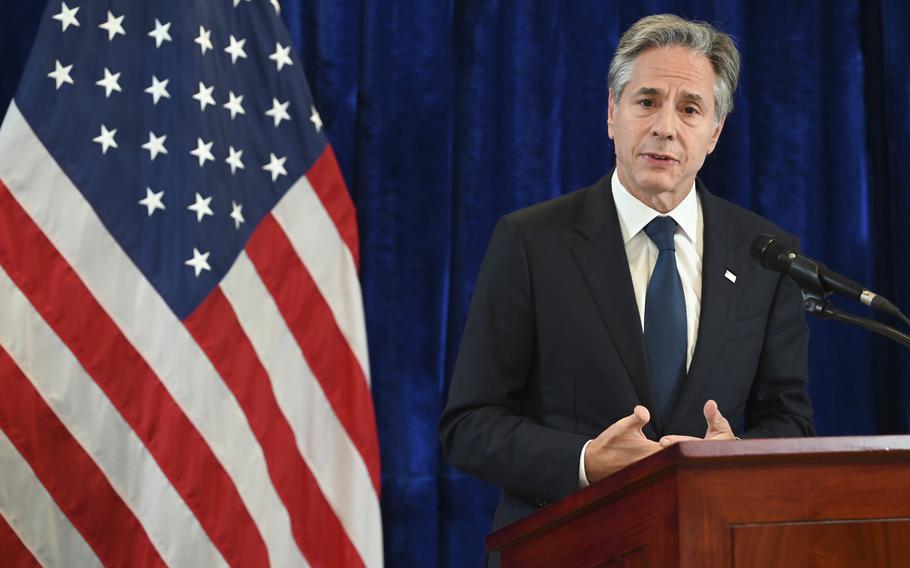
M 648 292 L 648 280 L 657 264 L 657 245 L 645 233 L 645 226 L 660 212 L 651 209 L 635 196 L 629 193 L 622 183 L 616 170 L 612 179 L 613 202 L 616 204 L 616 213 L 619 216 L 619 228 L 622 231 L 622 240 L 625 243 L 626 258 L 629 261 L 629 273 L 632 275 L 632 287 L 635 289 L 635 302 L 638 304 L 638 315 L 641 327 L 645 328 L 645 297 Z M 679 279 L 682 281 L 683 294 L 686 298 L 686 369 L 692 363 L 692 354 L 695 352 L 695 340 L 698 337 L 698 316 L 701 314 L 701 267 L 704 256 L 705 243 L 704 217 L 701 210 L 701 200 L 695 191 L 695 184 L 688 195 L 669 213 L 676 221 L 676 234 L 673 244 L 676 246 L 676 267 L 679 270 Z M 631 413 L 631 408 L 629 409 Z M 649 409 L 651 410 L 651 409 Z M 578 463 L 578 483 L 581 487 L 588 486 L 585 475 L 585 450 L 590 444 L 589 440 L 581 450 Z

